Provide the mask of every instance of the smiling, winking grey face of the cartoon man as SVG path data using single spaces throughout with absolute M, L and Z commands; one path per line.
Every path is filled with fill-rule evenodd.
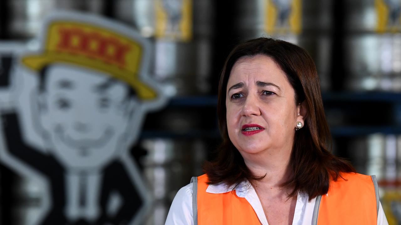
M 138 107 L 130 88 L 109 75 L 80 66 L 47 66 L 40 123 L 58 159 L 68 167 L 99 167 L 119 149 Z

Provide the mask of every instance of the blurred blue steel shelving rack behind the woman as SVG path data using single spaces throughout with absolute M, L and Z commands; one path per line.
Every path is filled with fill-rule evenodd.
M 322 94 L 325 108 L 330 108 L 332 102 L 337 102 L 340 105 L 352 105 L 358 102 L 359 104 L 372 104 L 384 103 L 388 104 L 393 110 L 391 115 L 391 125 L 360 125 L 360 126 L 332 126 L 330 127 L 331 133 L 334 137 L 352 137 L 358 135 L 369 135 L 372 133 L 383 134 L 401 134 L 401 93 L 390 92 L 326 92 Z M 217 96 L 186 96 L 172 98 L 167 107 L 182 108 L 202 108 L 210 107 L 215 108 L 217 104 Z M 369 113 L 369 112 L 366 112 Z M 372 115 L 374 116 L 374 115 Z M 146 138 L 219 138 L 219 130 L 217 128 L 217 116 L 214 120 L 215 129 L 199 130 L 194 129 L 191 131 L 161 131 L 161 130 L 147 130 L 144 129 L 141 134 L 142 139 Z

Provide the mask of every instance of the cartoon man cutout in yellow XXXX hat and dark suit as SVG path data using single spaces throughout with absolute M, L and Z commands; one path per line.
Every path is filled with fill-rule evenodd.
M 140 223 L 148 199 L 128 149 L 146 111 L 164 102 L 144 76 L 148 43 L 76 13 L 49 17 L 42 33 L 42 49 L 20 59 L 39 80 L 38 110 L 22 123 L 38 125 L 48 154 L 24 144 L 18 114 L 2 116 L 6 153 L 49 181 L 51 208 L 40 224 Z

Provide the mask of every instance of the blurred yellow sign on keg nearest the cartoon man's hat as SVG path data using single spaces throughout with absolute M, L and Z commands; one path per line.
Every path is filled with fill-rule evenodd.
M 156 38 L 192 39 L 192 0 L 154 0 Z

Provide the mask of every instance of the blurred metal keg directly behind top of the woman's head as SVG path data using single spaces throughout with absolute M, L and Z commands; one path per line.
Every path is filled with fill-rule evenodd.
M 269 36 L 305 48 L 316 64 L 322 90 L 330 89 L 331 0 L 251 0 L 237 3 L 241 40 Z

